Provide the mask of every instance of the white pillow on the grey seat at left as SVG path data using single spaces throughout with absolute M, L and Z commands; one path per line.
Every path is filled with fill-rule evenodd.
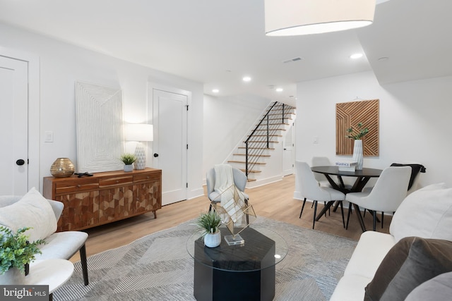
M 25 232 L 30 241 L 47 238 L 57 231 L 57 219 L 52 206 L 35 188 L 30 189 L 18 202 L 0 208 L 0 225 L 11 228 L 30 227 Z

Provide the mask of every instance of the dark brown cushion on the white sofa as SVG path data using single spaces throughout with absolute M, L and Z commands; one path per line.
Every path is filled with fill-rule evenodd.
M 418 285 L 452 271 L 452 242 L 403 238 L 389 250 L 371 283 L 366 300 L 405 300 Z

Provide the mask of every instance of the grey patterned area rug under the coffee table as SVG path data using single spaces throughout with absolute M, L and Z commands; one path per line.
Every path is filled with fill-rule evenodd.
M 89 257 L 87 286 L 76 262 L 72 278 L 54 292 L 54 300 L 195 300 L 194 259 L 186 251 L 192 223 Z M 251 224 L 260 227 L 280 234 L 289 246 L 276 265 L 274 300 L 329 300 L 357 242 L 263 217 Z

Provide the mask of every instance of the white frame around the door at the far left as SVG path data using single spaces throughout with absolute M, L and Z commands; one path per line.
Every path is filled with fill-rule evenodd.
M 40 177 L 40 57 L 0 47 L 0 56 L 28 63 L 28 190 L 42 191 Z

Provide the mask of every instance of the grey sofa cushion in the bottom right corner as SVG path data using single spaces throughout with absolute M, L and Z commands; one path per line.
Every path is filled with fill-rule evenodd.
M 451 300 L 452 272 L 436 276 L 412 290 L 405 301 Z

